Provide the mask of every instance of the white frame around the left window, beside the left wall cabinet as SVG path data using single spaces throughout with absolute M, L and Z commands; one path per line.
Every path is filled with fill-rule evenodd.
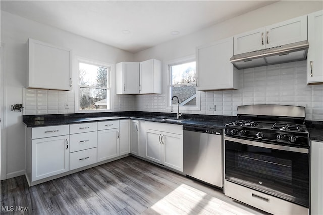
M 86 64 L 91 64 L 91 65 L 95 65 L 95 66 L 100 66 L 100 67 L 105 67 L 107 68 L 107 87 L 106 88 L 102 88 L 102 87 L 89 87 L 89 88 L 98 88 L 98 89 L 106 89 L 107 92 L 107 98 L 109 97 L 109 109 L 95 109 L 95 110 L 81 110 L 80 109 L 80 87 L 81 85 L 79 84 L 79 76 L 80 76 L 80 63 L 86 63 Z M 87 59 L 87 58 L 83 58 L 83 57 L 79 57 L 76 56 L 75 57 L 75 69 L 74 69 L 74 90 L 75 90 L 75 113 L 96 113 L 96 112 L 112 112 L 113 111 L 113 86 L 112 86 L 112 81 L 111 79 L 112 74 L 115 69 L 114 64 L 111 63 L 106 63 L 106 62 L 101 62 L 98 60 L 91 60 L 91 59 Z M 88 86 L 86 86 L 88 87 Z

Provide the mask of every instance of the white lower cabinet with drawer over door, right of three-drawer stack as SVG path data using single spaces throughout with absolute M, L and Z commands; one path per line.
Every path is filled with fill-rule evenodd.
M 97 123 L 97 162 L 119 156 L 119 121 Z M 111 128 L 111 129 L 107 129 Z

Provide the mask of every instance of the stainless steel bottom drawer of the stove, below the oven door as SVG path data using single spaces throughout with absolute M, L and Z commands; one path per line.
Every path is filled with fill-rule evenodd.
M 253 189 L 225 180 L 224 194 L 243 203 L 272 214 L 304 215 L 309 213 L 306 207 L 284 201 Z

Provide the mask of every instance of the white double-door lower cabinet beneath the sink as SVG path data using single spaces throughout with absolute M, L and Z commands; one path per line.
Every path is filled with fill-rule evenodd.
M 146 158 L 156 163 L 183 171 L 182 126 L 152 123 L 146 130 Z M 168 127 L 165 127 L 168 126 Z M 158 127 L 160 129 L 158 129 Z M 174 127 L 175 129 L 172 129 Z M 158 130 L 156 130 L 158 129 Z M 177 133 L 170 133 L 170 131 Z M 169 131 L 169 132 L 166 132 Z M 179 132 L 178 132 L 179 131 Z

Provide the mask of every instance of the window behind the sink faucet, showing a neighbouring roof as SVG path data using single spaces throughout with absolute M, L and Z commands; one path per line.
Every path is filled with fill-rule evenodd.
M 195 57 L 176 60 L 168 64 L 169 106 L 173 96 L 179 99 L 180 109 L 199 110 L 199 93 L 196 91 Z M 173 99 L 173 105 L 177 99 Z

